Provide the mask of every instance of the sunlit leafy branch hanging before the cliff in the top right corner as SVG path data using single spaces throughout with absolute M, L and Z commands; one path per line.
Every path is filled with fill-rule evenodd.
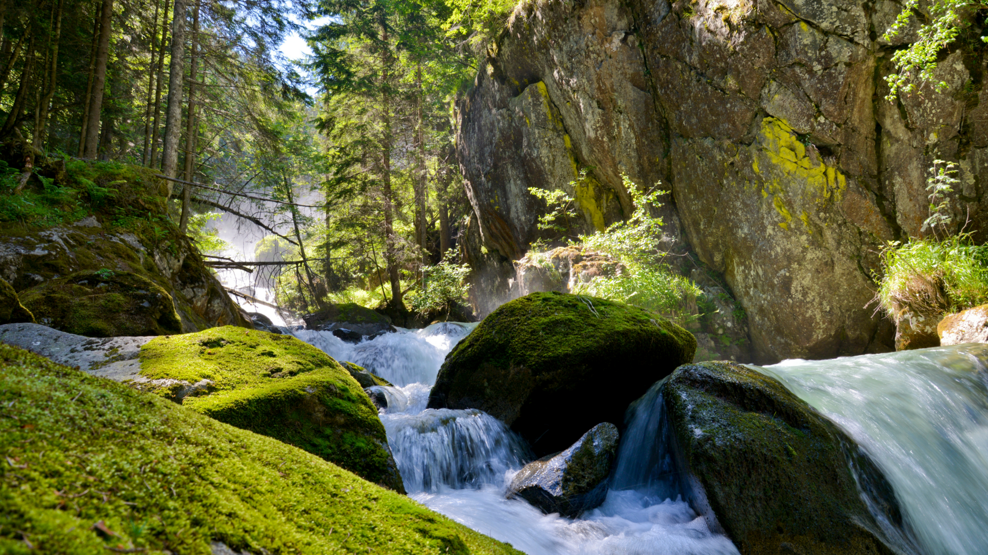
M 909 26 L 910 17 L 919 12 L 919 0 L 906 0 L 895 23 L 885 31 L 884 40 L 891 40 Z M 919 40 L 892 55 L 896 72 L 885 77 L 888 95 L 885 100 L 894 102 L 900 93 L 912 93 L 920 85 L 932 83 L 938 93 L 947 90 L 946 81 L 937 81 L 937 56 L 960 34 L 960 30 L 974 20 L 972 12 L 988 9 L 986 0 L 934 0 L 930 4 L 930 23 L 920 27 Z M 981 40 L 988 42 L 988 37 Z

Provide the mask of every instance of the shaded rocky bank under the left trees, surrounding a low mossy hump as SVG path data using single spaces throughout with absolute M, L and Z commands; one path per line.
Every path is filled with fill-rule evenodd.
M 149 280 L 151 285 L 157 287 L 156 291 L 163 290 L 171 297 L 174 306 L 171 311 L 161 307 L 161 315 L 165 316 L 165 320 L 171 320 L 170 314 L 177 313 L 181 329 L 156 333 L 197 332 L 228 324 L 249 325 L 236 303 L 230 300 L 222 285 L 203 265 L 199 252 L 188 239 L 177 236 L 168 239 L 141 237 L 101 223 L 96 216 L 47 229 L 25 230 L 21 226 L 0 225 L 0 278 L 9 281 L 22 297 L 33 297 L 35 287 L 52 279 L 61 281 L 52 283 L 47 291 L 71 289 L 78 283 L 70 285 L 67 280 L 79 273 L 134 275 Z M 148 287 L 142 287 L 142 290 L 151 290 Z M 39 295 L 43 294 L 41 289 L 38 292 Z M 146 298 L 137 304 L 146 300 L 156 305 L 158 298 Z M 48 308 L 55 312 L 65 309 L 58 305 Z M 149 316 L 153 321 L 158 318 L 160 316 Z M 171 330 L 173 325 L 162 323 L 159 328 Z M 99 329 L 99 326 L 92 329 L 101 337 L 111 333 Z M 149 332 L 119 333 L 139 335 Z

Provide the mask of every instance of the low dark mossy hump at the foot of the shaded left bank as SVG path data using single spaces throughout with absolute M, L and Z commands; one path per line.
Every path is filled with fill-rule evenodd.
M 21 302 L 45 326 L 87 337 L 182 333 L 168 292 L 129 272 L 77 272 L 25 291 Z

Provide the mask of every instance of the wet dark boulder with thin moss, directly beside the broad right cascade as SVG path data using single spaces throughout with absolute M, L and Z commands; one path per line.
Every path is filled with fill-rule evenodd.
M 881 471 L 779 381 L 741 364 L 700 362 L 678 368 L 661 392 L 692 504 L 743 555 L 916 552 L 890 547 L 890 537 L 909 534 Z

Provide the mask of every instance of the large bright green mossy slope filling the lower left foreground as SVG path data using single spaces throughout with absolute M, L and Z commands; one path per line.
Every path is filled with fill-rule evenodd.
M 301 449 L 5 345 L 0 406 L 2 553 L 521 555 Z

